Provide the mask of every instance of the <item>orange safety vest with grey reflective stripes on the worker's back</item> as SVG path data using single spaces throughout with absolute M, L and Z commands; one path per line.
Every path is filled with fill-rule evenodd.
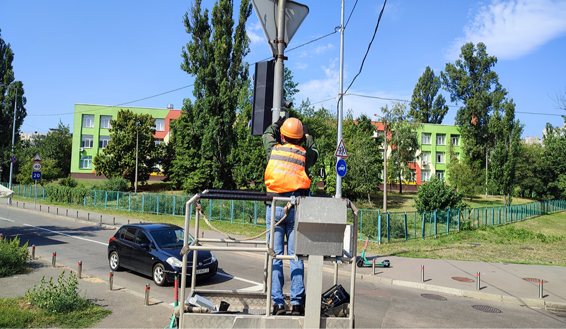
M 277 144 L 265 168 L 267 192 L 285 193 L 309 189 L 311 180 L 305 172 L 307 152 L 294 144 Z

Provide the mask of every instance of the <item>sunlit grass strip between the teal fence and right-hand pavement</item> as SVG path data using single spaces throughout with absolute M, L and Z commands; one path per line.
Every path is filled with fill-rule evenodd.
M 358 250 L 362 248 L 360 241 Z M 566 266 L 566 253 L 561 252 L 565 249 L 566 213 L 544 215 L 499 227 L 481 227 L 436 239 L 429 237 L 368 245 L 368 252 L 400 257 L 559 266 Z

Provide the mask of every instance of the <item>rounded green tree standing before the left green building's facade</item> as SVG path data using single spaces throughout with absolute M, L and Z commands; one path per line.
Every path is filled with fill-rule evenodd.
M 104 175 L 106 178 L 123 176 L 134 188 L 137 138 L 138 182 L 145 184 L 149 174 L 157 171 L 159 148 L 155 145 L 153 137 L 155 119 L 149 114 L 120 110 L 116 119 L 110 120 L 110 124 L 110 142 L 92 161 L 96 175 Z

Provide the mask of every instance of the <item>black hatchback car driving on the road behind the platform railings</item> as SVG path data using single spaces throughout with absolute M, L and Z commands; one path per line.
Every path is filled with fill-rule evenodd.
M 194 238 L 188 235 L 190 244 Z M 119 228 L 110 238 L 108 260 L 110 269 L 117 271 L 122 267 L 141 274 L 150 275 L 157 285 L 173 282 L 175 272 L 181 274 L 185 230 L 172 224 L 140 223 L 128 224 Z M 208 251 L 197 254 L 197 279 L 216 275 L 218 261 Z M 192 251 L 187 257 L 187 276 L 192 274 Z

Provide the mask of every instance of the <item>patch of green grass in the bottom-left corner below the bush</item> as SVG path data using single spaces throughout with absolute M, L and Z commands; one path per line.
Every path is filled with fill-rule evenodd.
M 24 297 L 0 298 L 0 328 L 88 328 L 112 313 L 97 305 L 50 315 L 24 301 Z

